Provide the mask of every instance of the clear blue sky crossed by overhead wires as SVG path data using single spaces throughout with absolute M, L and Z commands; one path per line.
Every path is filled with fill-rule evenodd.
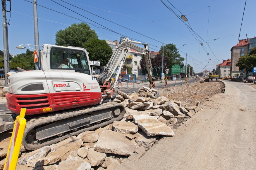
M 28 1 L 32 2 L 32 0 Z M 140 41 L 152 44 L 150 45 L 150 50 L 152 51 L 159 50 L 159 48 L 162 45 L 162 43 L 160 42 L 163 42 L 165 44 L 173 43 L 176 45 L 177 48 L 179 48 L 179 50 L 188 54 L 187 63 L 196 68 L 195 70 L 197 70 L 198 67 L 198 72 L 202 71 L 202 69 L 204 68 L 215 68 L 217 63 L 222 62 L 222 59 L 230 59 L 230 49 L 232 46 L 236 45 L 238 41 L 238 34 L 240 30 L 240 24 L 245 4 L 245 0 L 169 0 L 169 2 L 172 3 L 172 5 L 175 6 L 182 14 L 186 15 L 188 22 L 193 28 L 193 30 L 207 43 L 209 43 L 209 46 L 216 57 L 213 55 L 208 45 L 200 39 L 200 41 L 204 44 L 206 52 L 209 53 L 208 57 L 207 53 L 203 50 L 202 46 L 196 41 L 196 39 L 187 29 L 185 24 L 181 20 L 179 20 L 159 0 L 65 0 L 68 3 L 71 3 L 75 6 L 79 6 L 84 10 L 87 10 L 91 13 L 94 13 L 108 20 L 116 22 L 117 24 L 120 24 L 124 27 L 144 34 L 145 36 L 153 38 L 157 41 L 137 34 L 133 31 L 120 27 L 106 20 L 103 20 L 83 10 L 70 6 L 69 4 L 64 3 L 63 1 L 54 1 L 120 34 L 127 35 Z M 179 16 L 182 15 L 173 6 L 171 6 L 171 4 L 168 3 L 167 0 L 163 1 L 169 7 L 171 7 L 171 9 L 173 9 Z M 54 3 L 51 0 L 38 0 L 37 3 L 47 8 L 51 8 L 61 13 L 70 15 L 72 17 L 76 17 L 85 22 L 95 24 L 92 21 L 87 20 L 86 18 Z M 16 49 L 16 46 L 23 43 L 34 44 L 33 17 L 31 17 L 33 16 L 33 4 L 24 0 L 12 0 L 11 5 L 11 25 L 8 26 L 8 36 L 9 51 L 12 55 L 14 55 L 23 53 L 26 50 Z M 211 6 L 207 7 L 209 5 Z M 244 39 L 246 34 L 248 34 L 249 38 L 253 38 L 254 36 L 256 36 L 256 22 L 254 17 L 256 14 L 255 6 L 255 0 L 248 0 L 246 3 L 240 39 Z M 8 7 L 9 5 L 6 8 L 8 9 Z M 40 6 L 37 7 L 37 10 L 38 17 L 40 18 L 38 19 L 40 45 L 45 43 L 54 44 L 55 33 L 57 31 L 59 31 L 60 29 L 65 29 L 66 27 L 68 27 L 68 25 L 71 25 L 72 23 L 81 22 L 74 18 L 67 17 L 65 15 L 56 13 L 54 11 L 48 10 Z M 7 21 L 9 20 L 9 17 L 10 13 L 7 13 Z M 99 39 L 109 39 L 114 41 L 117 39 L 119 40 L 120 38 L 120 35 L 116 33 L 95 27 L 91 24 L 90 27 L 92 29 L 95 29 L 99 36 Z M 2 34 L 0 34 L 0 39 L 3 39 Z M 217 40 L 214 41 L 214 39 Z M 183 46 L 183 44 L 186 45 Z M 0 47 L 0 49 L 3 50 L 3 41 L 0 41 Z M 182 57 L 185 58 L 185 54 L 183 54 L 182 52 L 179 53 L 181 54 Z M 209 58 L 211 60 L 209 60 Z M 208 65 L 206 66 L 206 64 Z

